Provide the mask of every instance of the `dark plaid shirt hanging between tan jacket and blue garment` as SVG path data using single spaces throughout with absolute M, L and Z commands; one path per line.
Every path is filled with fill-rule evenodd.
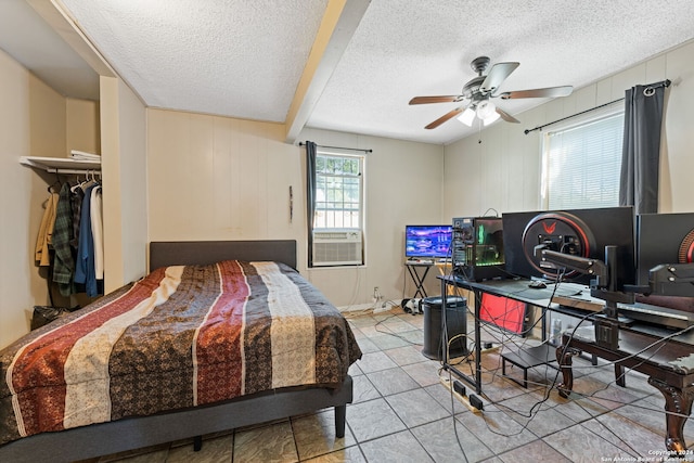
M 53 259 L 53 281 L 63 296 L 75 293 L 73 276 L 75 274 L 75 257 L 69 243 L 73 239 L 73 203 L 69 184 L 63 183 L 55 210 L 55 227 L 52 245 L 55 249 Z

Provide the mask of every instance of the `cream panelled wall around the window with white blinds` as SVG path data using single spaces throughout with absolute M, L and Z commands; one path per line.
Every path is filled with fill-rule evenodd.
M 694 43 L 647 60 L 568 98 L 516 115 L 520 124 L 497 123 L 479 136 L 446 147 L 444 217 L 478 216 L 488 208 L 504 211 L 540 207 L 541 131 L 525 129 L 551 123 L 624 98 L 628 88 L 666 78 L 660 164 L 660 213 L 694 210 Z M 503 102 L 499 103 L 503 106 Z M 481 143 L 478 140 L 481 139 Z

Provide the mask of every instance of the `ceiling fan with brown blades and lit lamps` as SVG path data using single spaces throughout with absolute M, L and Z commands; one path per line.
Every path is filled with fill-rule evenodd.
M 462 105 L 450 111 L 434 120 L 425 127 L 425 129 L 435 129 L 448 119 L 458 115 L 459 119 L 472 127 L 475 116 L 481 119 L 485 126 L 493 123 L 499 117 L 507 123 L 519 123 L 518 119 L 497 107 L 491 101 L 492 98 L 501 98 L 502 100 L 519 99 L 519 98 L 556 98 L 568 97 L 571 94 L 574 87 L 548 87 L 543 89 L 518 90 L 494 93 L 503 83 L 503 81 L 519 66 L 520 63 L 497 63 L 489 69 L 489 74 L 485 75 L 485 70 L 489 67 L 490 60 L 487 56 L 474 59 L 470 66 L 477 77 L 471 79 L 463 86 L 463 91 L 458 95 L 437 95 L 437 97 L 414 97 L 410 100 L 410 104 L 428 104 L 428 103 L 459 103 Z

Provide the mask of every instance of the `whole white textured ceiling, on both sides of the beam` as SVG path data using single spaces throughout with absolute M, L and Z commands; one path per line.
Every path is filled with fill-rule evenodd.
M 476 56 L 520 63 L 501 91 L 581 88 L 694 38 L 691 0 L 372 0 L 352 13 L 354 30 L 334 27 L 347 38 L 327 47 L 338 51 L 316 74 L 325 82 L 304 97 L 321 21 L 338 0 L 55 1 L 149 106 L 284 123 L 298 95 L 301 126 L 429 143 L 477 128 L 425 130 L 458 105 L 409 100 L 460 93 Z M 522 123 L 544 101 L 496 100 Z

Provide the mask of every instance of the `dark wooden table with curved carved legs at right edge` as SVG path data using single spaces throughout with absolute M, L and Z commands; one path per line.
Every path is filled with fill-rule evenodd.
M 595 344 L 594 330 L 590 326 L 576 330 L 573 336 L 565 332 L 562 345 L 556 348 L 563 374 L 563 383 L 557 386 L 562 397 L 568 397 L 571 391 L 571 357 L 581 351 L 615 362 L 616 373 L 629 368 L 647 374 L 648 384 L 665 397 L 667 449 L 686 450 L 683 429 L 694 399 L 694 346 L 626 327 L 619 330 L 619 348 L 611 350 Z

